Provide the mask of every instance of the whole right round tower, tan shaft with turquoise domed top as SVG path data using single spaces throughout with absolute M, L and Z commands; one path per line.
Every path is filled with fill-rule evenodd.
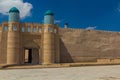
M 53 64 L 55 55 L 54 14 L 48 10 L 44 15 L 42 64 Z

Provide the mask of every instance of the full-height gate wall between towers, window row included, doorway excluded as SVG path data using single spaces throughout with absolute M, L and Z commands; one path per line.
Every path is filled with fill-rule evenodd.
M 25 64 L 25 49 L 32 49 L 32 63 L 41 63 L 41 34 L 42 25 L 33 23 L 21 23 L 21 54 L 20 64 Z M 24 28 L 24 31 L 22 31 Z M 29 28 L 29 29 L 28 29 Z

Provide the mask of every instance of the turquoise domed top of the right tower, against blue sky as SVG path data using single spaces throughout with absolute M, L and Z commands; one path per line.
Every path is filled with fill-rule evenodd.
M 54 13 L 51 10 L 45 13 L 44 24 L 54 24 Z

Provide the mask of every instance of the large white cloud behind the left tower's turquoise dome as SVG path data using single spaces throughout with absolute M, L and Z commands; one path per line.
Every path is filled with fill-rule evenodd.
M 0 13 L 8 15 L 8 11 L 12 7 L 17 7 L 20 11 L 20 18 L 31 15 L 32 4 L 23 2 L 23 0 L 0 0 Z

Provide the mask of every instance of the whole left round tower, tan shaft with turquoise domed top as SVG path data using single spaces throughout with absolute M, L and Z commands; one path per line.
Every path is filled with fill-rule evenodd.
M 7 36 L 7 64 L 19 64 L 20 29 L 19 10 L 12 7 L 9 10 L 8 36 Z

